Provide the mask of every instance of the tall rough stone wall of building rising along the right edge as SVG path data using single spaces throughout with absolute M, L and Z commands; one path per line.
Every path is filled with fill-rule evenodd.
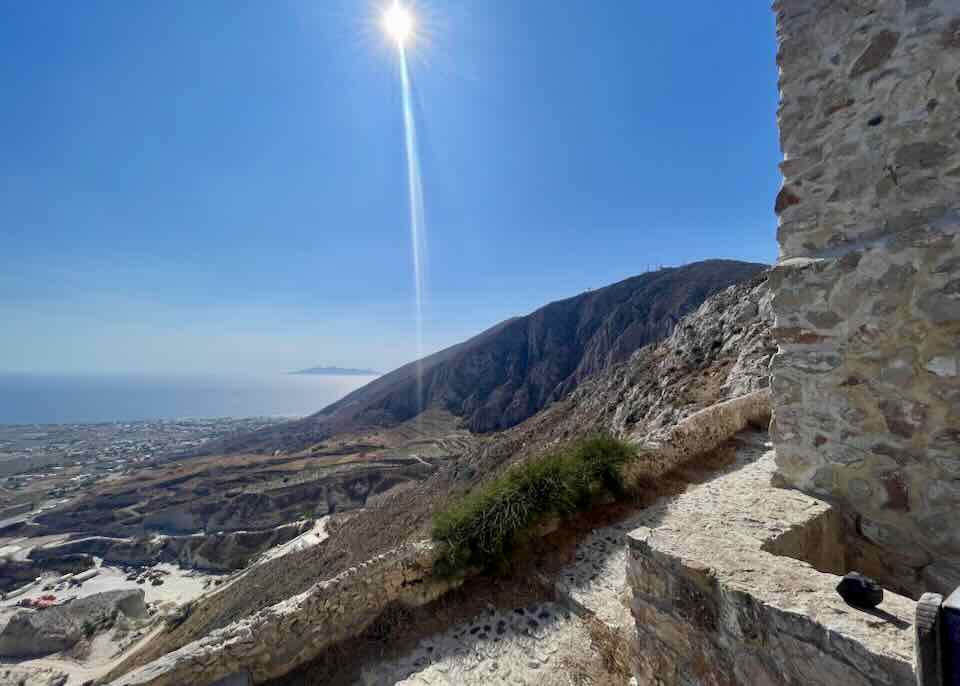
M 779 477 L 960 582 L 960 3 L 777 0 Z

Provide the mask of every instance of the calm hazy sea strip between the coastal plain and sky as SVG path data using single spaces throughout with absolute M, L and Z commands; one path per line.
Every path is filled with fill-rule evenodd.
M 367 376 L 0 375 L 0 424 L 307 415 Z

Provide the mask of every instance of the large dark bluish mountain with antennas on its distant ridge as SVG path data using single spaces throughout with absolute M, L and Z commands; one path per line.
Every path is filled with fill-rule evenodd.
M 427 407 L 461 418 L 473 432 L 507 429 L 669 336 L 706 298 L 763 269 L 707 260 L 550 303 L 386 374 L 306 419 L 209 449 L 297 450 L 333 433 L 395 425 Z

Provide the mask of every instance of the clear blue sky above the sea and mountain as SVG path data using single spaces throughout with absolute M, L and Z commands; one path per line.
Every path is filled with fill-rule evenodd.
M 385 0 L 0 1 L 0 370 L 413 358 Z M 775 259 L 767 0 L 415 8 L 428 349 Z

